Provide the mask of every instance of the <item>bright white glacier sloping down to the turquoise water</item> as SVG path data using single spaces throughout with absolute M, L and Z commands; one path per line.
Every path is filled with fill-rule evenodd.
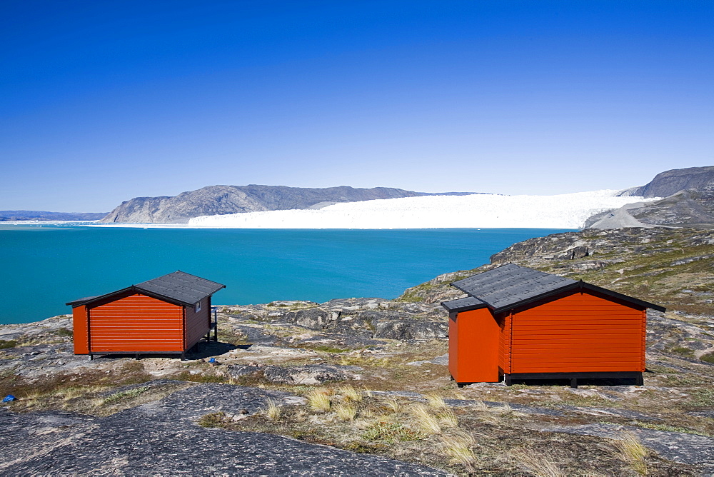
M 188 226 L 233 229 L 580 229 L 594 214 L 640 201 L 619 191 L 555 196 L 422 196 L 286 210 L 201 216 Z

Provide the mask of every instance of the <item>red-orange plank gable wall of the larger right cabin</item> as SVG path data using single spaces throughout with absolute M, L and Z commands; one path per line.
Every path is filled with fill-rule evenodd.
M 644 371 L 644 316 L 590 293 L 538 303 L 513 313 L 510 371 L 501 366 L 506 373 Z

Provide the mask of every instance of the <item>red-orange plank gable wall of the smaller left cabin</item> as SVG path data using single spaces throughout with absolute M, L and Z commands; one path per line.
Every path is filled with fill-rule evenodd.
M 134 293 L 89 309 L 91 353 L 185 350 L 183 307 Z

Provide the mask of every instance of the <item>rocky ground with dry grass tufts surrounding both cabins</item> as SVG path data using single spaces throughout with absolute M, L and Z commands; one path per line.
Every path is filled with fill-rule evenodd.
M 74 356 L 67 316 L 1 326 L 0 393 L 18 400 L 0 408 L 0 474 L 714 475 L 712 257 L 714 232 L 585 231 L 484 267 L 668 306 L 648 316 L 645 386 L 458 388 L 437 302 L 473 271 L 395 301 L 220 306 L 219 341 L 183 362 Z

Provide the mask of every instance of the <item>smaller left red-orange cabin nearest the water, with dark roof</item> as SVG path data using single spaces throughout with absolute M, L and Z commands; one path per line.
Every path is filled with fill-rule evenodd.
M 180 353 L 210 338 L 211 296 L 225 285 L 182 271 L 70 301 L 74 354 Z

